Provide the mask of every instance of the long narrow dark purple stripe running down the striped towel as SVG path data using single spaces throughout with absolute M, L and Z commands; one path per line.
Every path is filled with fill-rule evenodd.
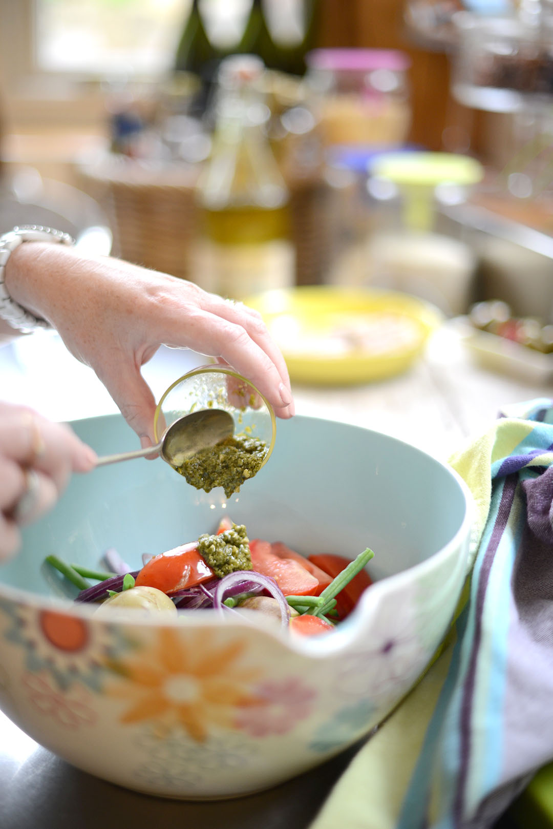
M 478 662 L 478 652 L 480 650 L 480 641 L 482 638 L 482 615 L 484 607 L 484 599 L 486 597 L 486 589 L 488 588 L 488 579 L 490 570 L 492 569 L 493 560 L 495 558 L 497 547 L 502 539 L 503 532 L 507 526 L 509 515 L 511 514 L 512 502 L 517 490 L 517 475 L 509 475 L 503 484 L 503 492 L 499 508 L 497 510 L 497 517 L 492 530 L 492 536 L 488 542 L 488 547 L 483 557 L 482 567 L 478 577 L 478 588 L 476 594 L 476 602 L 474 605 L 474 637 L 473 647 L 470 654 L 470 662 L 468 664 L 468 671 L 466 679 L 463 683 L 463 699 L 461 701 L 461 717 L 460 717 L 460 764 L 458 772 L 457 791 L 454 798 L 454 826 L 461 825 L 463 817 L 463 795 L 468 778 L 468 764 L 470 761 L 471 745 L 470 745 L 470 727 L 471 715 L 473 710 L 473 696 L 474 686 L 476 684 L 476 666 Z

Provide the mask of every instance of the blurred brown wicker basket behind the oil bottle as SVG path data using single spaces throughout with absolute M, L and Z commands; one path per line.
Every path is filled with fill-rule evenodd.
M 191 269 L 191 245 L 198 229 L 196 167 L 148 167 L 112 157 L 80 167 L 79 175 L 80 186 L 109 216 L 115 256 L 201 284 Z M 296 282 L 314 284 L 323 252 L 317 213 L 320 184 L 313 177 L 289 184 Z

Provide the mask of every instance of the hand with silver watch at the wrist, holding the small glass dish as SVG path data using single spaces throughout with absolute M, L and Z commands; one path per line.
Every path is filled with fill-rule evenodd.
M 85 259 L 38 242 L 10 256 L 6 284 L 12 298 L 51 322 L 70 352 L 95 370 L 143 447 L 153 443 L 156 403 L 140 369 L 162 344 L 228 363 L 279 417 L 293 415 L 284 357 L 260 314 L 241 303 L 120 259 Z

